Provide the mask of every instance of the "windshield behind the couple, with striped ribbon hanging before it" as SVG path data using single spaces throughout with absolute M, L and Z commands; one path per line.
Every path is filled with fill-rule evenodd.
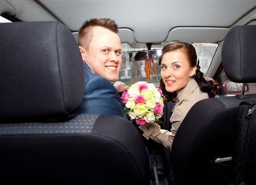
M 169 43 L 169 42 L 168 42 Z M 122 43 L 122 67 L 117 81 L 123 81 L 127 85 L 134 84 L 137 81 L 148 81 L 159 87 L 160 67 L 159 57 L 161 49 L 168 44 L 163 42 L 158 45 L 152 45 L 148 50 L 146 43 Z M 201 71 L 206 75 L 212 58 L 218 48 L 215 43 L 192 43 L 197 50 Z M 135 60 L 136 53 L 140 51 L 148 52 L 148 59 Z

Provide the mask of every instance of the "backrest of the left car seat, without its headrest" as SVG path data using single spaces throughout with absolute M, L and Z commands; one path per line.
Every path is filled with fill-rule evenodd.
M 1 183 L 149 184 L 138 129 L 119 116 L 1 124 L 0 150 Z

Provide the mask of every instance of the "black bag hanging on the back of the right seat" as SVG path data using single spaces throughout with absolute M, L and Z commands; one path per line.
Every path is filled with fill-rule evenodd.
M 256 184 L 256 103 L 242 101 L 238 118 L 233 155 L 233 183 Z

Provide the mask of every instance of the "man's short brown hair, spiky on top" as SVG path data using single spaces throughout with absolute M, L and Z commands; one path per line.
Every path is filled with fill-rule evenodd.
M 93 32 L 92 29 L 95 26 L 101 26 L 105 29 L 118 33 L 118 26 L 114 20 L 110 18 L 92 18 L 83 23 L 78 32 L 78 44 L 85 49 L 89 47 Z

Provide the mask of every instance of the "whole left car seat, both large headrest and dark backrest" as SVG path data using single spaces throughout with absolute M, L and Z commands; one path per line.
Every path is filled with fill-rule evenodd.
M 0 24 L 0 183 L 149 184 L 138 129 L 82 103 L 78 45 L 58 22 Z

